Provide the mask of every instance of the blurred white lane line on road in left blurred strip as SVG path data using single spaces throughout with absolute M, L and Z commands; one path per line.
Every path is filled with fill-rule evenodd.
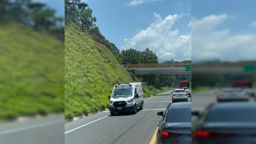
M 25 130 L 43 127 L 43 126 L 51 125 L 51 124 L 57 124 L 57 123 L 64 123 L 64 119 L 59 120 L 59 121 L 44 123 L 44 124 L 36 124 L 36 125 L 27 126 L 27 127 L 21 127 L 21 128 L 17 128 L 17 129 L 7 130 L 7 131 L 0 132 L 0 135 L 9 134 L 9 133 L 13 133 L 13 132 L 25 131 Z

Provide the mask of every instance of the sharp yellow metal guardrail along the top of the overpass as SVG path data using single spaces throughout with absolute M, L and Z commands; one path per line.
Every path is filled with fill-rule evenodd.
M 185 67 L 186 65 L 191 63 L 130 64 L 124 65 L 124 68 Z

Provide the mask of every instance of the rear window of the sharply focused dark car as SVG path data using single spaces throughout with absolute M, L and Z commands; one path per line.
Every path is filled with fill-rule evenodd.
M 169 111 L 169 123 L 191 122 L 191 108 L 175 108 Z

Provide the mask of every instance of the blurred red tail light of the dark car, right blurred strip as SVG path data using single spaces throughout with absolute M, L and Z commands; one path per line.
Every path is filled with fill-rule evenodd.
M 196 131 L 192 134 L 193 137 L 230 137 L 234 136 L 234 134 L 229 133 L 212 133 L 207 131 Z

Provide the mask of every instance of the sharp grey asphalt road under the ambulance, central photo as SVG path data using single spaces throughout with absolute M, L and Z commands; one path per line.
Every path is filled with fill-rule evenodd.
M 144 99 L 143 110 L 137 114 L 121 113 L 111 116 L 103 111 L 65 124 L 66 144 L 149 144 L 161 116 L 171 102 L 171 91 Z M 170 94 L 170 95 L 165 95 Z M 190 100 L 190 98 L 188 99 Z M 155 139 L 152 139 L 155 143 Z

